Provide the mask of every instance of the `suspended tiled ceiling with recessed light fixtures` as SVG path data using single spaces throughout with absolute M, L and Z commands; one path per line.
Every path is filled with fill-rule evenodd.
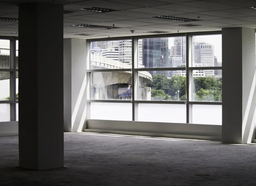
M 38 0 L 0 0 L 0 17 L 18 18 L 20 3 Z M 225 27 L 256 28 L 256 0 L 41 0 L 59 3 L 65 10 L 64 38 L 105 38 L 131 35 L 152 35 L 152 31 L 169 33 L 221 30 Z M 97 13 L 80 9 L 101 7 L 119 11 Z M 176 22 L 155 19 L 156 16 L 174 16 L 199 21 Z M 185 24 L 200 26 L 187 27 Z M 73 27 L 76 24 L 115 26 L 116 29 Z M 131 33 L 134 30 L 134 33 Z M 0 35 L 18 36 L 18 23 L 0 20 Z M 79 35 L 78 35 L 79 34 Z M 81 34 L 84 34 L 81 35 Z

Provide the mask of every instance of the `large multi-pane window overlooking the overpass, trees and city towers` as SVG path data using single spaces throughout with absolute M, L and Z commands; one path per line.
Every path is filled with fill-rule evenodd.
M 219 32 L 88 46 L 89 118 L 221 125 Z

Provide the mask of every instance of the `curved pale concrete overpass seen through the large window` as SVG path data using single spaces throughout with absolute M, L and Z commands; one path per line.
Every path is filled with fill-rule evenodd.
M 111 58 L 91 54 L 92 69 L 131 69 L 131 64 Z M 142 69 L 143 70 L 143 69 Z M 145 87 L 152 82 L 152 76 L 147 71 L 138 72 L 139 99 L 151 100 L 151 88 Z M 131 99 L 131 70 L 120 72 L 93 73 L 92 99 Z

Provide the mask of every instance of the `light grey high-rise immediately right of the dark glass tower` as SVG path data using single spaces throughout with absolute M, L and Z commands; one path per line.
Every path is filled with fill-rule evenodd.
M 170 53 L 170 55 L 180 55 L 182 63 L 186 63 L 186 37 L 174 38 Z

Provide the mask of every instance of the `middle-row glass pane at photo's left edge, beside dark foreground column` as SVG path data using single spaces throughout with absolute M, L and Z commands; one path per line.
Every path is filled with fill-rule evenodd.
M 10 73 L 0 72 L 0 101 L 10 100 Z

